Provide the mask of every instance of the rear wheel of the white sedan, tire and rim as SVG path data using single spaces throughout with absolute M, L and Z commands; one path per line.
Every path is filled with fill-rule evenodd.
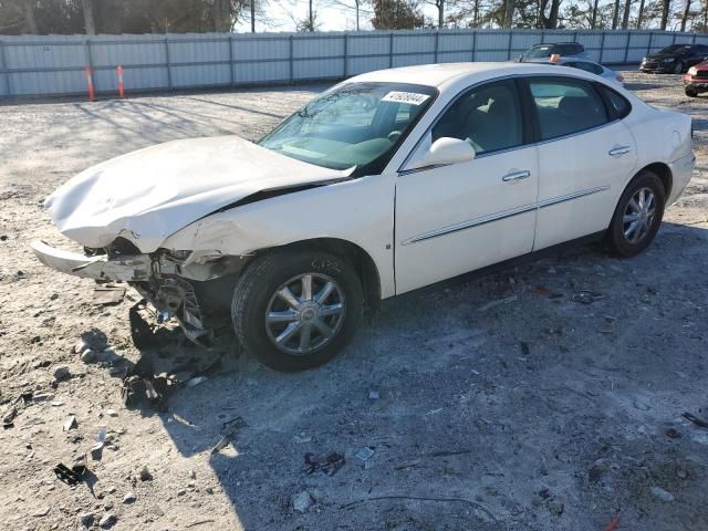
M 658 176 L 641 171 L 627 186 L 615 208 L 605 241 L 615 253 L 634 257 L 652 243 L 662 219 L 666 192 Z

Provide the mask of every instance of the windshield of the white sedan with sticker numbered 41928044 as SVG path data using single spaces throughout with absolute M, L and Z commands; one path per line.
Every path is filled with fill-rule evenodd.
M 258 144 L 325 168 L 383 170 L 436 95 L 424 85 L 345 84 L 300 108 Z

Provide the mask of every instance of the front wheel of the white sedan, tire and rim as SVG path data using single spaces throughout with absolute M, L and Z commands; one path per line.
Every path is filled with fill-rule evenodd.
M 241 344 L 275 371 L 315 367 L 351 340 L 362 284 L 347 260 L 325 251 L 273 251 L 237 282 L 231 317 Z

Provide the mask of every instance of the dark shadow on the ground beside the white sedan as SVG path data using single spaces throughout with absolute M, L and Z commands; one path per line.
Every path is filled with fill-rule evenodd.
M 707 242 L 664 223 L 633 260 L 589 247 L 409 293 L 323 367 L 240 356 L 159 415 L 248 530 L 602 529 L 618 508 L 690 525 L 699 503 L 659 511 L 648 491 L 690 489 L 680 459 L 708 473 L 688 406 L 663 398 L 689 387 L 677 334 L 705 346 L 689 306 L 708 289 L 684 279 Z M 667 446 L 668 427 L 685 437 Z

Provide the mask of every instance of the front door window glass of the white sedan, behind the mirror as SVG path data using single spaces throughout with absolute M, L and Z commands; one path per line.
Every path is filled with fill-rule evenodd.
M 468 142 L 477 155 L 523 143 L 521 105 L 513 81 L 472 88 L 457 100 L 433 127 L 441 137 Z

